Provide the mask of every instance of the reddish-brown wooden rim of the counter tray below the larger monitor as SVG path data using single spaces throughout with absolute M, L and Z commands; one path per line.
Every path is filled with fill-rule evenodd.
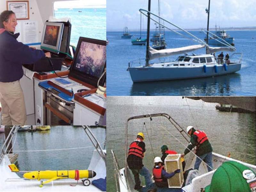
M 88 108 L 91 108 L 93 111 L 96 111 L 97 113 L 100 113 L 101 115 L 104 115 L 106 112 L 105 108 L 100 107 L 99 105 L 83 98 L 84 95 L 87 95 L 90 93 L 95 93 L 96 91 L 97 91 L 97 88 L 76 93 L 74 95 L 74 100 L 78 101 L 79 103 L 85 105 Z

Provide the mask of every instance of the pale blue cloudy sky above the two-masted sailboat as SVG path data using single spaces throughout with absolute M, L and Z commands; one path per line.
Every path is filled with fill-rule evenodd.
M 160 0 L 160 15 L 182 28 L 206 28 L 208 0 Z M 107 31 L 140 29 L 139 9 L 148 9 L 148 0 L 107 0 Z M 158 13 L 158 1 L 151 0 L 151 12 Z M 210 28 L 255 27 L 256 0 L 211 0 Z M 151 22 L 151 28 L 154 23 Z M 147 29 L 144 16 L 142 30 Z

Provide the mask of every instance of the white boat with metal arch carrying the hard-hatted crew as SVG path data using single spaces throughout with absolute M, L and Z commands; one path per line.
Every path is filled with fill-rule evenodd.
M 180 133 L 182 135 L 182 137 L 184 138 L 184 141 L 189 143 L 189 136 L 186 133 L 186 131 L 168 114 L 158 113 L 158 114 L 149 114 L 149 115 L 130 117 L 127 120 L 126 126 L 125 126 L 125 154 L 124 154 L 125 155 L 125 166 L 124 167 L 119 166 L 118 159 L 116 158 L 114 151 L 111 150 L 113 159 L 114 159 L 114 166 L 115 166 L 116 186 L 117 186 L 117 191 L 119 191 L 119 192 L 136 191 L 133 189 L 134 185 L 135 185 L 134 180 L 133 180 L 133 174 L 128 169 L 128 166 L 127 166 L 127 155 L 128 155 L 128 147 L 129 147 L 128 146 L 128 131 L 133 129 L 133 127 L 128 128 L 128 125 L 134 125 L 133 122 L 135 123 L 136 120 L 146 119 L 146 118 L 150 119 L 150 121 L 152 121 L 152 119 L 158 118 L 157 120 L 160 120 L 161 122 L 163 122 L 162 125 L 164 125 L 164 130 L 167 132 L 167 134 L 170 134 L 170 136 L 173 137 L 175 140 L 178 140 L 178 142 L 180 142 L 181 145 L 184 145 L 183 142 L 181 142 L 179 139 L 177 139 L 177 137 L 175 136 L 176 133 L 173 133 L 172 130 L 170 129 L 170 127 L 173 130 L 176 129 L 177 133 Z M 134 120 L 134 121 L 132 121 L 132 120 Z M 148 140 L 150 142 L 150 138 L 148 138 Z M 186 145 L 184 145 L 184 146 L 187 147 Z M 153 161 L 153 159 L 152 159 L 152 161 Z M 196 154 L 193 149 L 192 151 L 190 151 L 190 153 L 188 155 L 185 156 L 186 166 L 183 171 L 193 169 L 195 161 L 196 161 Z M 218 153 L 212 153 L 213 170 L 208 172 L 207 164 L 202 162 L 202 164 L 199 167 L 198 172 L 197 171 L 194 172 L 195 170 L 188 171 L 188 177 L 186 179 L 186 182 L 185 181 L 183 182 L 183 186 L 180 188 L 180 190 L 182 189 L 183 192 L 199 192 L 199 191 L 201 191 L 202 188 L 205 188 L 206 186 L 208 186 L 211 183 L 212 176 L 216 172 L 216 170 L 220 166 L 222 166 L 225 162 L 229 162 L 229 161 L 233 161 L 233 162 L 242 164 L 242 165 L 248 167 L 249 169 L 251 169 L 252 171 L 256 172 L 255 165 L 244 163 L 242 161 L 239 161 L 239 160 L 227 157 L 227 156 L 223 156 Z M 194 172 L 195 174 L 190 174 L 190 172 Z M 237 182 L 239 182 L 239 181 L 237 181 Z M 255 182 L 255 180 L 251 180 L 250 182 Z M 248 183 L 250 183 L 250 182 L 248 182 Z M 252 186 L 252 188 L 253 187 L 254 186 Z M 169 189 L 170 189 L 170 191 L 175 191 L 177 188 L 171 189 L 170 184 L 169 184 Z M 147 191 L 147 190 L 148 189 L 146 187 L 143 187 L 141 189 L 141 191 L 143 191 L 143 192 Z

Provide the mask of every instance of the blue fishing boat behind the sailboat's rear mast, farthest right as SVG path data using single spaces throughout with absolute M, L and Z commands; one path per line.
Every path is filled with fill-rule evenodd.
M 216 28 L 216 26 L 215 26 Z M 211 44 L 211 45 L 223 45 L 223 41 L 218 38 L 220 37 L 221 39 L 225 40 L 227 43 L 231 44 L 232 46 L 234 46 L 234 37 L 230 37 L 230 35 L 227 34 L 226 30 L 218 30 L 217 31 L 217 28 L 215 29 L 215 36 L 213 37 L 210 37 L 208 38 L 208 44 Z M 219 41 L 217 41 L 216 39 L 218 39 Z M 204 39 L 204 41 L 206 42 L 206 38 Z

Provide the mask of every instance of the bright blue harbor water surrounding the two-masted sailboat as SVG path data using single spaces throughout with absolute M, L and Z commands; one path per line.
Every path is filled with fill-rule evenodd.
M 129 32 L 134 35 L 132 38 L 140 36 L 139 31 Z M 199 31 L 190 32 L 200 39 L 204 39 L 205 37 L 204 33 L 200 33 Z M 153 33 L 154 31 L 151 31 L 150 36 Z M 126 71 L 128 62 L 140 58 L 141 60 L 145 60 L 146 46 L 132 45 L 131 39 L 122 39 L 122 31 L 107 32 L 107 38 L 109 40 L 107 46 L 108 95 L 255 95 L 256 32 L 228 31 L 228 33 L 235 38 L 236 52 L 243 53 L 242 67 L 237 73 L 207 78 L 133 84 L 129 72 Z M 146 31 L 143 31 L 143 34 L 142 38 L 146 38 Z M 170 31 L 165 31 L 165 40 L 167 48 L 177 48 L 194 44 L 191 40 L 182 38 Z M 205 49 L 197 50 L 194 53 L 204 54 Z M 229 55 L 231 54 L 229 53 Z M 177 57 L 178 55 L 172 56 L 171 58 L 174 60 Z

